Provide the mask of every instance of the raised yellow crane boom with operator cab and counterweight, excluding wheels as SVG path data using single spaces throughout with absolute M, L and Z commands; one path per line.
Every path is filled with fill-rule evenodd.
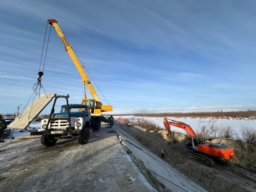
M 90 80 L 87 77 L 86 73 L 84 72 L 84 69 L 81 66 L 79 60 L 77 59 L 76 54 L 74 53 L 71 45 L 68 43 L 64 34 L 61 32 L 61 29 L 58 26 L 57 21 L 55 19 L 48 19 L 47 22 L 50 25 L 53 25 L 56 32 L 60 36 L 61 40 L 63 41 L 63 43 L 65 45 L 67 52 L 69 53 L 74 64 L 76 65 L 76 68 L 78 69 L 80 75 L 82 76 L 83 84 L 87 85 L 88 89 L 90 90 L 90 93 L 93 96 L 93 99 L 87 99 L 86 94 L 85 94 L 85 87 L 84 87 L 84 99 L 82 99 L 81 104 L 89 105 L 92 115 L 101 115 L 102 112 L 113 111 L 112 105 L 102 105 L 102 102 L 100 101 L 99 96 L 97 95 L 96 91 L 94 90 L 93 85 L 90 83 Z

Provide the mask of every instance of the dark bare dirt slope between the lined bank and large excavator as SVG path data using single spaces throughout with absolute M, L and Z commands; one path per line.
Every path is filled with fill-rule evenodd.
M 240 163 L 239 161 L 236 163 L 236 160 L 234 160 L 234 162 L 231 162 L 230 166 L 223 166 L 216 163 L 214 167 L 207 167 L 182 155 L 182 150 L 185 149 L 183 143 L 185 136 L 182 134 L 174 133 L 177 141 L 180 143 L 172 145 L 166 142 L 168 141 L 168 138 L 166 137 L 165 130 L 158 132 L 148 131 L 147 129 L 138 126 L 122 126 L 122 129 L 128 134 L 131 134 L 131 136 L 136 138 L 154 154 L 159 155 L 159 157 L 161 148 L 164 148 L 165 160 L 172 167 L 189 177 L 195 183 L 204 187 L 204 189 L 207 189 L 209 192 L 256 191 L 256 169 L 253 170 L 243 167 L 243 160 L 240 160 Z M 240 154 L 236 152 L 236 147 L 232 144 L 227 145 L 233 147 L 235 153 L 240 156 Z M 248 150 L 251 150 L 251 146 L 248 147 L 247 145 L 247 148 Z M 241 150 L 244 151 L 244 148 L 241 148 Z M 249 152 L 247 154 L 249 155 Z M 245 155 L 244 158 L 246 159 Z

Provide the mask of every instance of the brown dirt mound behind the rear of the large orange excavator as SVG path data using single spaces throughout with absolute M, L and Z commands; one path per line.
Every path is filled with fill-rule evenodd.
M 222 143 L 233 148 L 235 151 L 235 158 L 230 160 L 231 163 L 256 169 L 256 145 L 232 139 L 214 139 L 210 141 L 210 143 Z

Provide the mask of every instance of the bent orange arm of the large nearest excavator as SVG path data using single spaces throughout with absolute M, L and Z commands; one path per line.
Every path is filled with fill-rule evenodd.
M 171 120 L 171 119 L 164 118 L 163 124 L 164 124 L 166 131 L 168 131 L 169 136 L 172 135 L 170 125 L 173 125 L 175 127 L 185 130 L 187 132 L 188 136 L 198 137 L 197 134 L 195 133 L 195 131 L 190 127 L 190 125 L 187 125 L 186 123 L 175 121 L 175 120 L 171 120 L 171 122 L 168 120 Z

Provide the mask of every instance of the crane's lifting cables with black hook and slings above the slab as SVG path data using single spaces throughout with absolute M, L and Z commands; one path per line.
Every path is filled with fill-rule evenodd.
M 48 23 L 47 23 L 47 26 L 46 26 L 46 30 L 45 30 L 45 35 L 44 35 L 44 44 L 45 44 L 45 38 L 46 38 L 46 35 L 47 35 L 47 27 L 48 27 Z M 44 56 L 44 66 L 45 66 L 45 60 L 46 60 L 46 55 L 47 55 L 47 49 L 48 49 L 48 44 L 49 44 L 49 38 L 50 38 L 50 33 L 51 33 L 51 29 L 52 29 L 52 26 L 50 27 L 50 30 L 49 30 L 49 35 L 48 35 L 48 40 L 47 40 L 47 47 L 46 47 L 46 52 L 45 52 L 45 56 Z M 44 87 L 41 83 L 41 77 L 44 75 L 44 66 L 43 66 L 43 71 L 40 71 L 41 70 L 41 64 L 42 64 L 42 58 L 43 58 L 43 53 L 44 53 L 44 44 L 43 44 L 43 49 L 42 49 L 42 54 L 41 54 L 41 61 L 40 61 L 40 66 L 39 66 L 39 72 L 38 72 L 38 81 L 33 85 L 32 89 L 33 89 L 33 93 L 32 95 L 30 96 L 29 100 L 31 99 L 31 97 L 33 96 L 34 94 L 34 98 L 33 98 L 33 102 L 31 104 L 31 108 L 30 108 L 30 111 L 29 111 L 29 116 L 28 116 L 28 119 L 30 117 L 30 113 L 31 113 L 31 110 L 32 110 L 32 107 L 33 107 L 33 103 L 34 103 L 34 100 L 35 100 L 35 96 L 36 95 L 39 95 L 39 98 L 40 98 L 40 91 L 41 91 L 41 88 L 43 88 L 44 90 Z M 39 87 L 39 89 L 38 89 Z M 46 95 L 46 97 L 48 98 L 45 90 L 44 90 L 44 93 Z M 26 106 L 28 105 L 29 101 L 26 103 Z M 23 109 L 23 111 L 26 109 L 26 106 L 25 108 Z M 23 113 L 23 111 L 20 113 L 19 115 L 19 119 Z

